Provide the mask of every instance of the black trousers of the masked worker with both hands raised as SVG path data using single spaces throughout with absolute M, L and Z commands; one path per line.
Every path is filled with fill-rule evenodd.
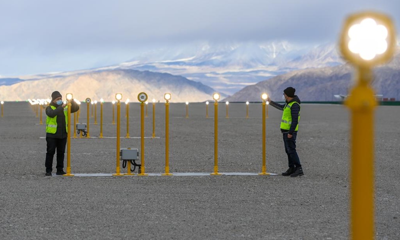
M 64 152 L 66 146 L 66 138 L 54 138 L 54 137 L 46 137 L 47 142 L 47 152 L 46 152 L 46 161 L 44 163 L 47 171 L 52 171 L 53 165 L 53 157 L 55 150 L 57 150 L 57 165 L 55 168 L 57 170 L 62 170 L 64 167 Z

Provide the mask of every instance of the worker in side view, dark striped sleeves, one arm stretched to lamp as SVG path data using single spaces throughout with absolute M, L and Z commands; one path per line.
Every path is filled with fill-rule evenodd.
M 283 135 L 284 150 L 287 154 L 289 168 L 282 172 L 282 175 L 291 177 L 304 175 L 296 152 L 298 121 L 300 120 L 300 99 L 297 95 L 294 95 L 295 91 L 296 89 L 291 86 L 283 90 L 282 98 L 285 100 L 285 104 L 271 101 L 269 97 L 267 99 L 269 105 L 283 111 L 280 131 Z

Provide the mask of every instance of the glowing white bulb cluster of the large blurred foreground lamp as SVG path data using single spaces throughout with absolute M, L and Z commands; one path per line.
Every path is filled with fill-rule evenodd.
M 348 29 L 348 49 L 364 60 L 371 60 L 387 50 L 387 28 L 376 24 L 372 18 L 365 18 Z

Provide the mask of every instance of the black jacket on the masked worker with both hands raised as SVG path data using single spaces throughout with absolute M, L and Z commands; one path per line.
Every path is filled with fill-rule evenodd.
M 53 110 L 50 106 L 55 106 L 56 108 Z M 71 102 L 71 113 L 79 110 L 79 105 L 72 100 Z M 46 107 L 46 115 L 49 117 L 57 116 L 57 130 L 55 133 L 46 132 L 46 137 L 54 137 L 54 138 L 66 138 L 66 127 L 65 127 L 65 115 L 64 108 L 61 105 L 57 105 L 54 102 L 50 102 L 50 104 Z

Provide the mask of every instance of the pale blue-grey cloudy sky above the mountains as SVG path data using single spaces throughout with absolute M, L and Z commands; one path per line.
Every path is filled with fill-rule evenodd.
M 337 41 L 344 17 L 400 0 L 0 0 L 0 76 L 117 64 L 198 40 Z

